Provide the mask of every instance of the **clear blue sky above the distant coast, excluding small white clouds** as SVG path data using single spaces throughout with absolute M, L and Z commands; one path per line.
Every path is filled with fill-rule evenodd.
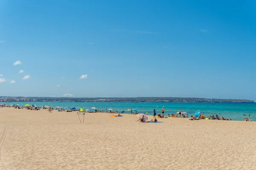
M 0 96 L 256 100 L 255 47 L 253 0 L 0 0 Z

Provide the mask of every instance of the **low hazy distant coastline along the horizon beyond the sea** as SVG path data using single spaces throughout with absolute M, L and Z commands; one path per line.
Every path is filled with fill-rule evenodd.
M 196 102 L 247 103 L 247 99 L 205 99 L 191 97 L 21 97 L 0 96 L 0 102 Z

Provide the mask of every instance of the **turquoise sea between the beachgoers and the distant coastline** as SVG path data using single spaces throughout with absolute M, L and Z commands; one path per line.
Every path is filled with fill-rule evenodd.
M 0 103 L 2 104 L 2 103 Z M 4 103 L 3 103 L 4 104 Z M 9 102 L 9 105 L 19 104 L 19 105 L 32 105 L 37 106 L 51 106 L 51 107 L 76 107 L 79 109 L 83 107 L 89 109 L 90 111 L 103 110 L 112 108 L 114 111 L 125 113 L 131 113 L 127 111 L 128 109 L 134 108 L 138 112 L 153 115 L 153 110 L 156 109 L 157 113 L 161 113 L 161 109 L 165 107 L 165 115 L 175 114 L 179 109 L 183 112 L 187 112 L 189 117 L 194 115 L 196 111 L 201 111 L 205 117 L 212 114 L 219 114 L 224 118 L 231 118 L 233 120 L 244 120 L 244 117 L 248 117 L 250 114 L 250 119 L 256 121 L 256 103 L 148 103 L 148 102 Z M 243 116 L 243 115 L 247 116 Z

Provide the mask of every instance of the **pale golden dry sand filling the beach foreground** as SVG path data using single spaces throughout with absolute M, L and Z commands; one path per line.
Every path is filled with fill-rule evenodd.
M 0 169 L 256 170 L 256 122 L 111 115 L 0 108 Z

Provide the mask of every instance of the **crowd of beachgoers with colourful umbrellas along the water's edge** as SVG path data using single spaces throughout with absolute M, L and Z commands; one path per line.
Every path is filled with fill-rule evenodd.
M 113 109 L 105 109 L 105 111 L 103 110 L 97 110 L 96 108 L 92 108 L 95 109 L 95 111 L 90 111 L 89 109 L 84 109 L 84 108 L 80 108 L 80 109 L 76 109 L 75 107 L 66 107 L 65 109 L 63 107 L 51 107 L 51 106 L 47 106 L 47 105 L 43 105 L 42 107 L 36 106 L 36 105 L 24 105 L 24 106 L 20 106 L 20 105 L 8 105 L 8 104 L 1 104 L 0 108 L 3 107 L 7 107 L 7 108 L 16 108 L 16 109 L 28 109 L 28 110 L 41 110 L 41 109 L 45 109 L 49 112 L 52 112 L 52 110 L 57 110 L 57 111 L 64 111 L 64 112 L 72 112 L 72 111 L 79 111 L 79 112 L 87 112 L 87 113 L 118 113 L 118 115 L 112 115 L 112 117 L 122 117 L 122 113 L 125 113 L 125 111 L 122 112 L 118 112 L 118 111 L 114 111 Z M 144 113 L 139 113 L 136 109 L 128 109 L 127 111 L 130 111 L 131 114 L 136 114 L 140 119 L 137 121 L 140 122 L 158 122 L 156 118 L 169 118 L 169 117 L 176 117 L 176 118 L 189 118 L 188 113 L 186 112 L 182 112 L 180 109 L 178 110 L 177 113 L 175 114 L 168 114 L 168 116 L 165 116 L 165 108 L 163 107 L 161 109 L 161 113 L 156 113 L 156 110 L 154 109 L 153 111 L 153 118 L 151 119 L 151 121 L 148 121 L 148 112 Z M 212 114 L 209 115 L 207 117 L 204 116 L 204 114 L 200 114 L 200 111 L 196 112 L 195 115 L 192 115 L 189 120 L 201 120 L 201 119 L 212 119 L 212 120 L 232 120 L 231 118 L 226 119 L 224 117 L 220 116 L 221 113 L 219 114 Z M 246 115 L 244 115 L 246 116 Z M 250 114 L 249 114 L 250 117 Z M 244 121 L 252 121 L 251 119 L 244 117 Z

